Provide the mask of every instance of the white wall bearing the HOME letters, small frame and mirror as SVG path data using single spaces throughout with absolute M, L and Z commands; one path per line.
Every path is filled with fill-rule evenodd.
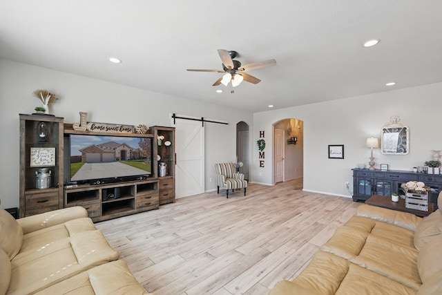
M 272 184 L 272 124 L 287 117 L 304 121 L 304 189 L 349 196 L 345 182 L 352 189 L 352 168 L 358 163 L 368 166 L 370 151 L 365 147 L 367 137 L 380 137 L 381 128 L 390 117 L 401 117 L 410 127 L 408 155 L 382 155 L 374 150 L 376 168 L 389 164 L 389 169 L 408 170 L 432 160 L 432 150 L 442 150 L 442 83 L 398 91 L 387 91 L 339 99 L 320 104 L 253 114 L 253 182 Z M 259 167 L 259 132 L 265 131 L 265 167 Z M 345 159 L 329 159 L 328 145 L 344 144 Z

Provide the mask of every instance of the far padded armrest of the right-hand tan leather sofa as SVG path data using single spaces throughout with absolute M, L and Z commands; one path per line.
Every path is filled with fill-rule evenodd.
M 390 225 L 410 229 L 410 231 L 416 231 L 417 225 L 422 221 L 421 217 L 415 216 L 412 213 L 394 211 L 368 204 L 359 206 L 355 215 L 390 223 Z

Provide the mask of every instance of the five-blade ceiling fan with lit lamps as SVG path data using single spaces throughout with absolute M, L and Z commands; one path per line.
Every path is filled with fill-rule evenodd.
M 223 84 L 227 86 L 229 82 L 232 82 L 232 86 L 238 86 L 243 80 L 246 82 L 250 82 L 253 84 L 258 84 L 261 82 L 260 79 L 253 77 L 245 72 L 249 72 L 251 70 L 258 70 L 258 68 L 267 68 L 268 66 L 275 66 L 276 60 L 269 59 L 266 61 L 255 62 L 252 64 L 247 64 L 245 66 L 241 66 L 240 61 L 235 60 L 234 58 L 238 56 L 238 53 L 233 50 L 224 50 L 218 49 L 218 54 L 221 57 L 222 61 L 222 70 L 195 70 L 188 68 L 187 70 L 193 72 L 215 72 L 215 73 L 226 73 L 220 79 L 216 80 L 213 83 L 213 86 L 218 86 Z

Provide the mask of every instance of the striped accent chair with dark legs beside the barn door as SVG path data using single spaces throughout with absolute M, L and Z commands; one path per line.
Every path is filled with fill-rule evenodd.
M 235 189 L 244 189 L 244 196 L 246 196 L 247 180 L 244 180 L 244 174 L 236 172 L 233 163 L 215 164 L 215 171 L 218 193 L 220 193 L 220 187 L 222 187 L 226 190 L 226 196 L 229 198 L 229 189 L 232 190 L 232 193 Z

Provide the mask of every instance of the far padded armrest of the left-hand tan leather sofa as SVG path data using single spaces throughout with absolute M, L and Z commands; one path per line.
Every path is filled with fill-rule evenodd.
M 69 220 L 84 217 L 88 217 L 88 211 L 83 207 L 77 206 L 20 218 L 17 219 L 17 222 L 19 222 L 23 234 L 29 234 L 32 231 L 38 231 L 40 229 L 45 229 L 46 227 L 52 227 Z

